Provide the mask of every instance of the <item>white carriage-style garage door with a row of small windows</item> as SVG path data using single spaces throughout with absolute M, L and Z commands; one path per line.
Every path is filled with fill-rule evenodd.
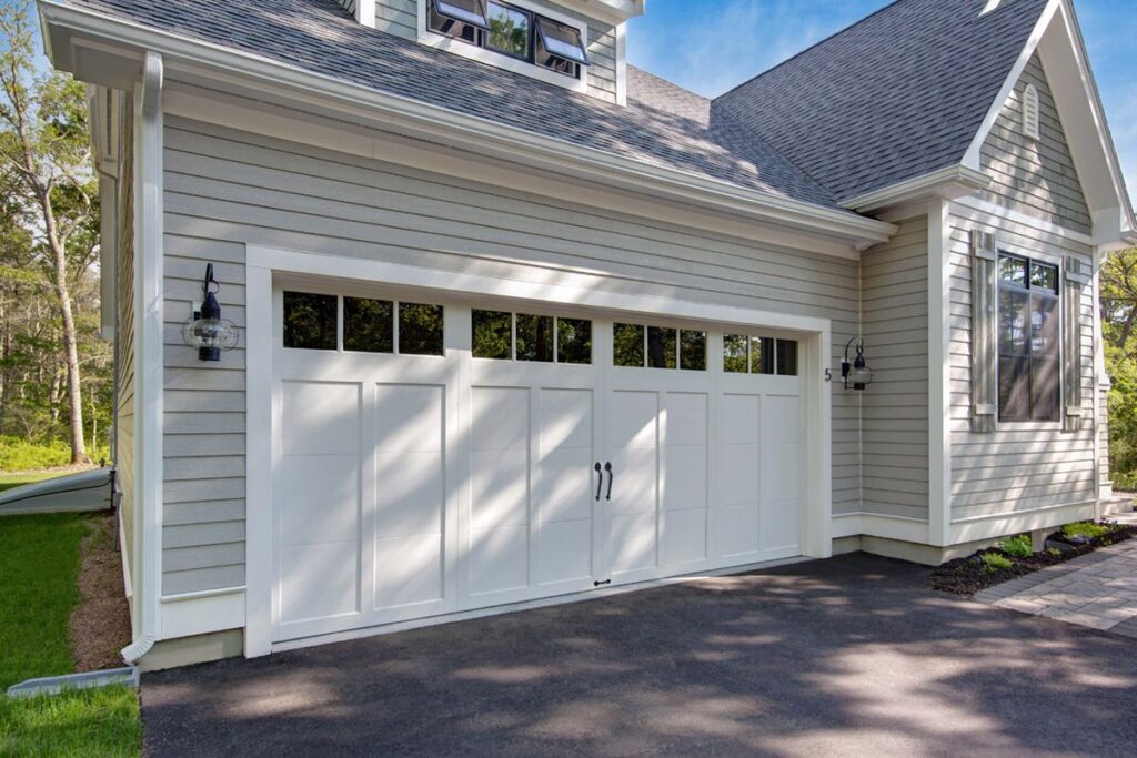
M 274 640 L 802 552 L 797 342 L 274 294 Z

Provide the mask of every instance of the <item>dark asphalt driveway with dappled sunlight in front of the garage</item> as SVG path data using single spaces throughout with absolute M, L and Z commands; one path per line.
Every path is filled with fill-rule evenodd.
M 147 675 L 155 756 L 1137 753 L 1132 640 L 863 555 Z

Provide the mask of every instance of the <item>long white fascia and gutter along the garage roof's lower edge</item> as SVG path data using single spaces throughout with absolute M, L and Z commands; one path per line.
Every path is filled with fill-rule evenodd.
M 389 128 L 407 136 L 440 142 L 476 155 L 523 161 L 534 168 L 568 174 L 598 184 L 669 197 L 762 223 L 818 232 L 848 240 L 850 244 L 886 242 L 896 233 L 896 227 L 891 224 L 843 210 L 780 198 L 533 134 L 259 56 L 236 52 L 222 45 L 107 18 L 60 5 L 59 0 L 41 0 L 40 13 L 49 30 L 70 33 L 69 47 L 75 47 L 77 40 L 74 38 L 81 35 L 96 43 L 125 45 L 132 49 L 124 51 L 127 56 L 152 50 L 166 60 L 168 73 L 185 70 L 193 74 L 208 70 L 219 77 L 235 75 L 260 88 L 266 98 L 276 91 L 293 100 L 343 115 L 372 119 L 381 117 Z M 66 68 L 63 65 L 66 61 L 52 59 L 52 63 Z

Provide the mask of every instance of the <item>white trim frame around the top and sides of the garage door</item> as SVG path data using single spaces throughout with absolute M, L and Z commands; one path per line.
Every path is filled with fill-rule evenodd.
M 247 592 L 246 655 L 273 650 L 273 278 L 276 275 L 318 276 L 383 283 L 393 288 L 433 290 L 451 297 L 508 298 L 549 306 L 598 309 L 641 318 L 666 314 L 675 319 L 717 326 L 769 328 L 799 333 L 802 398 L 806 407 L 805 534 L 803 552 L 824 558 L 831 550 L 831 389 L 829 319 L 778 314 L 683 300 L 671 297 L 624 294 L 588 286 L 595 275 L 545 272 L 556 282 L 501 280 L 359 258 L 298 252 L 250 245 L 246 257 L 247 295 Z

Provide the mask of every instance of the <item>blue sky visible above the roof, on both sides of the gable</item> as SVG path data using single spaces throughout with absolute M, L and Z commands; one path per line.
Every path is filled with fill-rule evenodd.
M 631 63 L 715 97 L 889 0 L 648 0 Z M 1137 191 L 1137 2 L 1074 0 L 1130 194 Z

